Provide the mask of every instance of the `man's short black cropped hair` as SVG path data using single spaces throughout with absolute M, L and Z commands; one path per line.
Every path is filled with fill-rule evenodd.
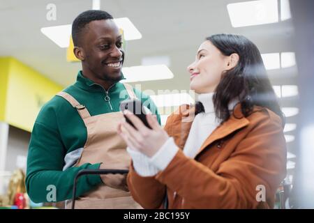
M 112 20 L 113 17 L 103 10 L 87 10 L 77 15 L 72 24 L 72 38 L 75 46 L 80 45 L 80 38 L 85 26 L 95 20 Z

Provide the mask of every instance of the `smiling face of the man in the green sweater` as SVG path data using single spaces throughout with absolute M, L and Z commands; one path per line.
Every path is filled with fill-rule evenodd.
M 96 78 L 118 82 L 124 60 L 122 36 L 113 20 L 96 20 L 84 27 L 81 47 L 85 66 Z

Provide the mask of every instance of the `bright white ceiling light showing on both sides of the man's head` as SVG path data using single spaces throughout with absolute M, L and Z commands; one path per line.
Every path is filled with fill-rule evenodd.
M 142 38 L 140 31 L 136 29 L 134 24 L 130 22 L 127 17 L 114 19 L 117 26 L 124 30 L 125 40 L 137 40 Z M 67 48 L 70 44 L 72 24 L 66 24 L 61 26 L 47 26 L 40 29 L 40 31 L 50 38 L 61 48 Z

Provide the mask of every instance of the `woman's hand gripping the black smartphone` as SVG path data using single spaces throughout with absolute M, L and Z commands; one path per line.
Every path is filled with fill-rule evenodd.
M 154 156 L 169 138 L 167 132 L 159 125 L 156 117 L 151 114 L 147 114 L 147 122 L 152 129 L 147 128 L 140 118 L 128 110 L 125 110 L 124 114 L 137 128 L 136 130 L 126 121 L 118 125 L 118 133 L 126 141 L 128 147 L 140 151 L 148 157 Z

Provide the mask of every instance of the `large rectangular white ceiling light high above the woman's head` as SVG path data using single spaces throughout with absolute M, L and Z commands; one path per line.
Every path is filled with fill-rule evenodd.
M 278 22 L 278 2 L 274 0 L 230 3 L 227 11 L 233 27 Z

